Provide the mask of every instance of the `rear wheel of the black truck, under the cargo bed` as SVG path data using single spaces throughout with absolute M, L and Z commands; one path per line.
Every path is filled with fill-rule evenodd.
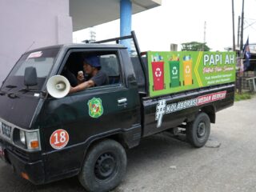
M 206 113 L 200 113 L 193 122 L 186 126 L 186 139 L 192 146 L 202 147 L 210 135 L 210 118 Z

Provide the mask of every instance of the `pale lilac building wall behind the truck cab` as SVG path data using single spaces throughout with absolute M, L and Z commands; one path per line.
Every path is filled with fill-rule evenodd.
M 0 86 L 26 50 L 72 42 L 69 0 L 0 0 Z

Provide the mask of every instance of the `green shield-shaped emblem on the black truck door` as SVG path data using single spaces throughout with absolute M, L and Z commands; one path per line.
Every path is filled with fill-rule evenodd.
M 103 114 L 102 99 L 92 98 L 87 102 L 89 115 L 92 118 L 99 118 Z

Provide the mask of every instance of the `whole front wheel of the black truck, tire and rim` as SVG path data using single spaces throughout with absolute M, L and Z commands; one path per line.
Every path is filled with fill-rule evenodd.
M 114 140 L 103 140 L 86 154 L 78 178 L 88 191 L 109 191 L 122 182 L 126 164 L 124 148 Z

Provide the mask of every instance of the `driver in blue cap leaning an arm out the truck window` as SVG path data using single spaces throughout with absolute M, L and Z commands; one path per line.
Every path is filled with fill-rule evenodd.
M 78 73 L 78 86 L 71 86 L 70 93 L 75 93 L 93 86 L 104 86 L 109 83 L 107 75 L 101 70 L 98 56 L 86 57 L 83 61 L 83 70 L 88 75 L 86 78 L 83 73 Z

